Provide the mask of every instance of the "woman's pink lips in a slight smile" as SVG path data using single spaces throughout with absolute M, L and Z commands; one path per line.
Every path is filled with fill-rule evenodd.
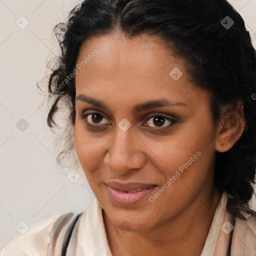
M 155 184 L 145 183 L 105 183 L 111 200 L 118 205 L 131 205 L 142 201 L 157 187 Z

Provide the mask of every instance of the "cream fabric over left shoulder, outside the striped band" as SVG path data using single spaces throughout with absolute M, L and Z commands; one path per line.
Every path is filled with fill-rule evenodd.
M 47 254 L 49 234 L 63 213 L 31 224 L 24 234 L 16 234 L 1 250 L 0 256 L 42 256 Z

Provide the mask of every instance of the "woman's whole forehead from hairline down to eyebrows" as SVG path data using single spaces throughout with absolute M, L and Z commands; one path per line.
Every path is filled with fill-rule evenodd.
M 91 54 L 95 49 L 98 52 Z M 172 54 L 157 37 L 129 39 L 121 32 L 92 37 L 82 44 L 78 64 L 76 95 L 86 93 L 106 99 L 115 96 L 125 103 L 158 96 L 194 103 L 194 97 L 205 97 L 190 81 L 184 60 Z

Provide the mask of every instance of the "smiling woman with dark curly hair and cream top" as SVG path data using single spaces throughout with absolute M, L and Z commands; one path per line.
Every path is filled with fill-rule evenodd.
M 96 199 L 1 255 L 255 255 L 256 54 L 241 16 L 226 0 L 85 0 L 55 32 L 47 122 L 66 107 L 63 152 Z

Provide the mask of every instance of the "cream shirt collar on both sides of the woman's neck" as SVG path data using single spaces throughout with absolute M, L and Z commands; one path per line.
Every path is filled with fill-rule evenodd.
M 214 251 L 220 226 L 223 221 L 227 194 L 222 193 L 200 256 L 211 255 Z M 79 232 L 80 230 L 80 232 Z M 77 256 L 111 256 L 108 245 L 102 206 L 95 198 L 91 206 L 82 214 L 77 235 Z

